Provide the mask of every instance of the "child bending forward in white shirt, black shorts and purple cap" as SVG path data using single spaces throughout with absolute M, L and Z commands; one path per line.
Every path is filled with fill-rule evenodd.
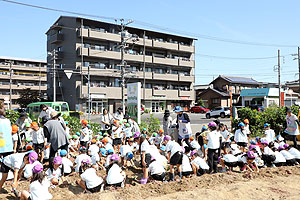
M 166 146 L 167 159 L 170 163 L 170 180 L 174 181 L 175 178 L 175 170 L 174 166 L 177 166 L 179 178 L 182 178 L 182 158 L 183 158 L 183 152 L 181 146 L 175 142 L 171 141 L 171 137 L 169 135 L 166 135 L 164 137 L 163 145 Z

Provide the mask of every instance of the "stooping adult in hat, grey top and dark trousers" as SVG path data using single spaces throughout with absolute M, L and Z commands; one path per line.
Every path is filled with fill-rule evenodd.
M 63 125 L 58 121 L 58 113 L 53 111 L 50 114 L 50 120 L 44 125 L 44 135 L 47 142 L 51 143 L 50 146 L 50 162 L 52 163 L 58 149 L 68 150 L 68 138 Z

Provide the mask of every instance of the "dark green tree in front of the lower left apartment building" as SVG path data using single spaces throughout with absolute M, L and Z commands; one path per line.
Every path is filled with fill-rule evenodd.
M 26 108 L 28 104 L 39 101 L 39 91 L 31 90 L 30 88 L 26 88 L 25 90 L 20 91 L 20 98 L 16 100 L 21 108 Z

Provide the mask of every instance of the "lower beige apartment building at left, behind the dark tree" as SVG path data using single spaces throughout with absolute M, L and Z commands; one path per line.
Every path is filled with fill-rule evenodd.
M 46 95 L 46 61 L 0 56 L 0 100 L 11 96 L 11 108 L 19 108 L 16 99 L 26 88 L 39 91 L 41 96 Z

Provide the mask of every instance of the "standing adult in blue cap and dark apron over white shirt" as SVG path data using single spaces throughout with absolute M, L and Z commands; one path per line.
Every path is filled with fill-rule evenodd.
M 189 138 L 192 136 L 192 128 L 188 114 L 183 113 L 181 106 L 176 106 L 174 109 L 177 114 L 177 129 L 178 129 L 178 143 L 181 145 L 182 140 L 192 149 Z

